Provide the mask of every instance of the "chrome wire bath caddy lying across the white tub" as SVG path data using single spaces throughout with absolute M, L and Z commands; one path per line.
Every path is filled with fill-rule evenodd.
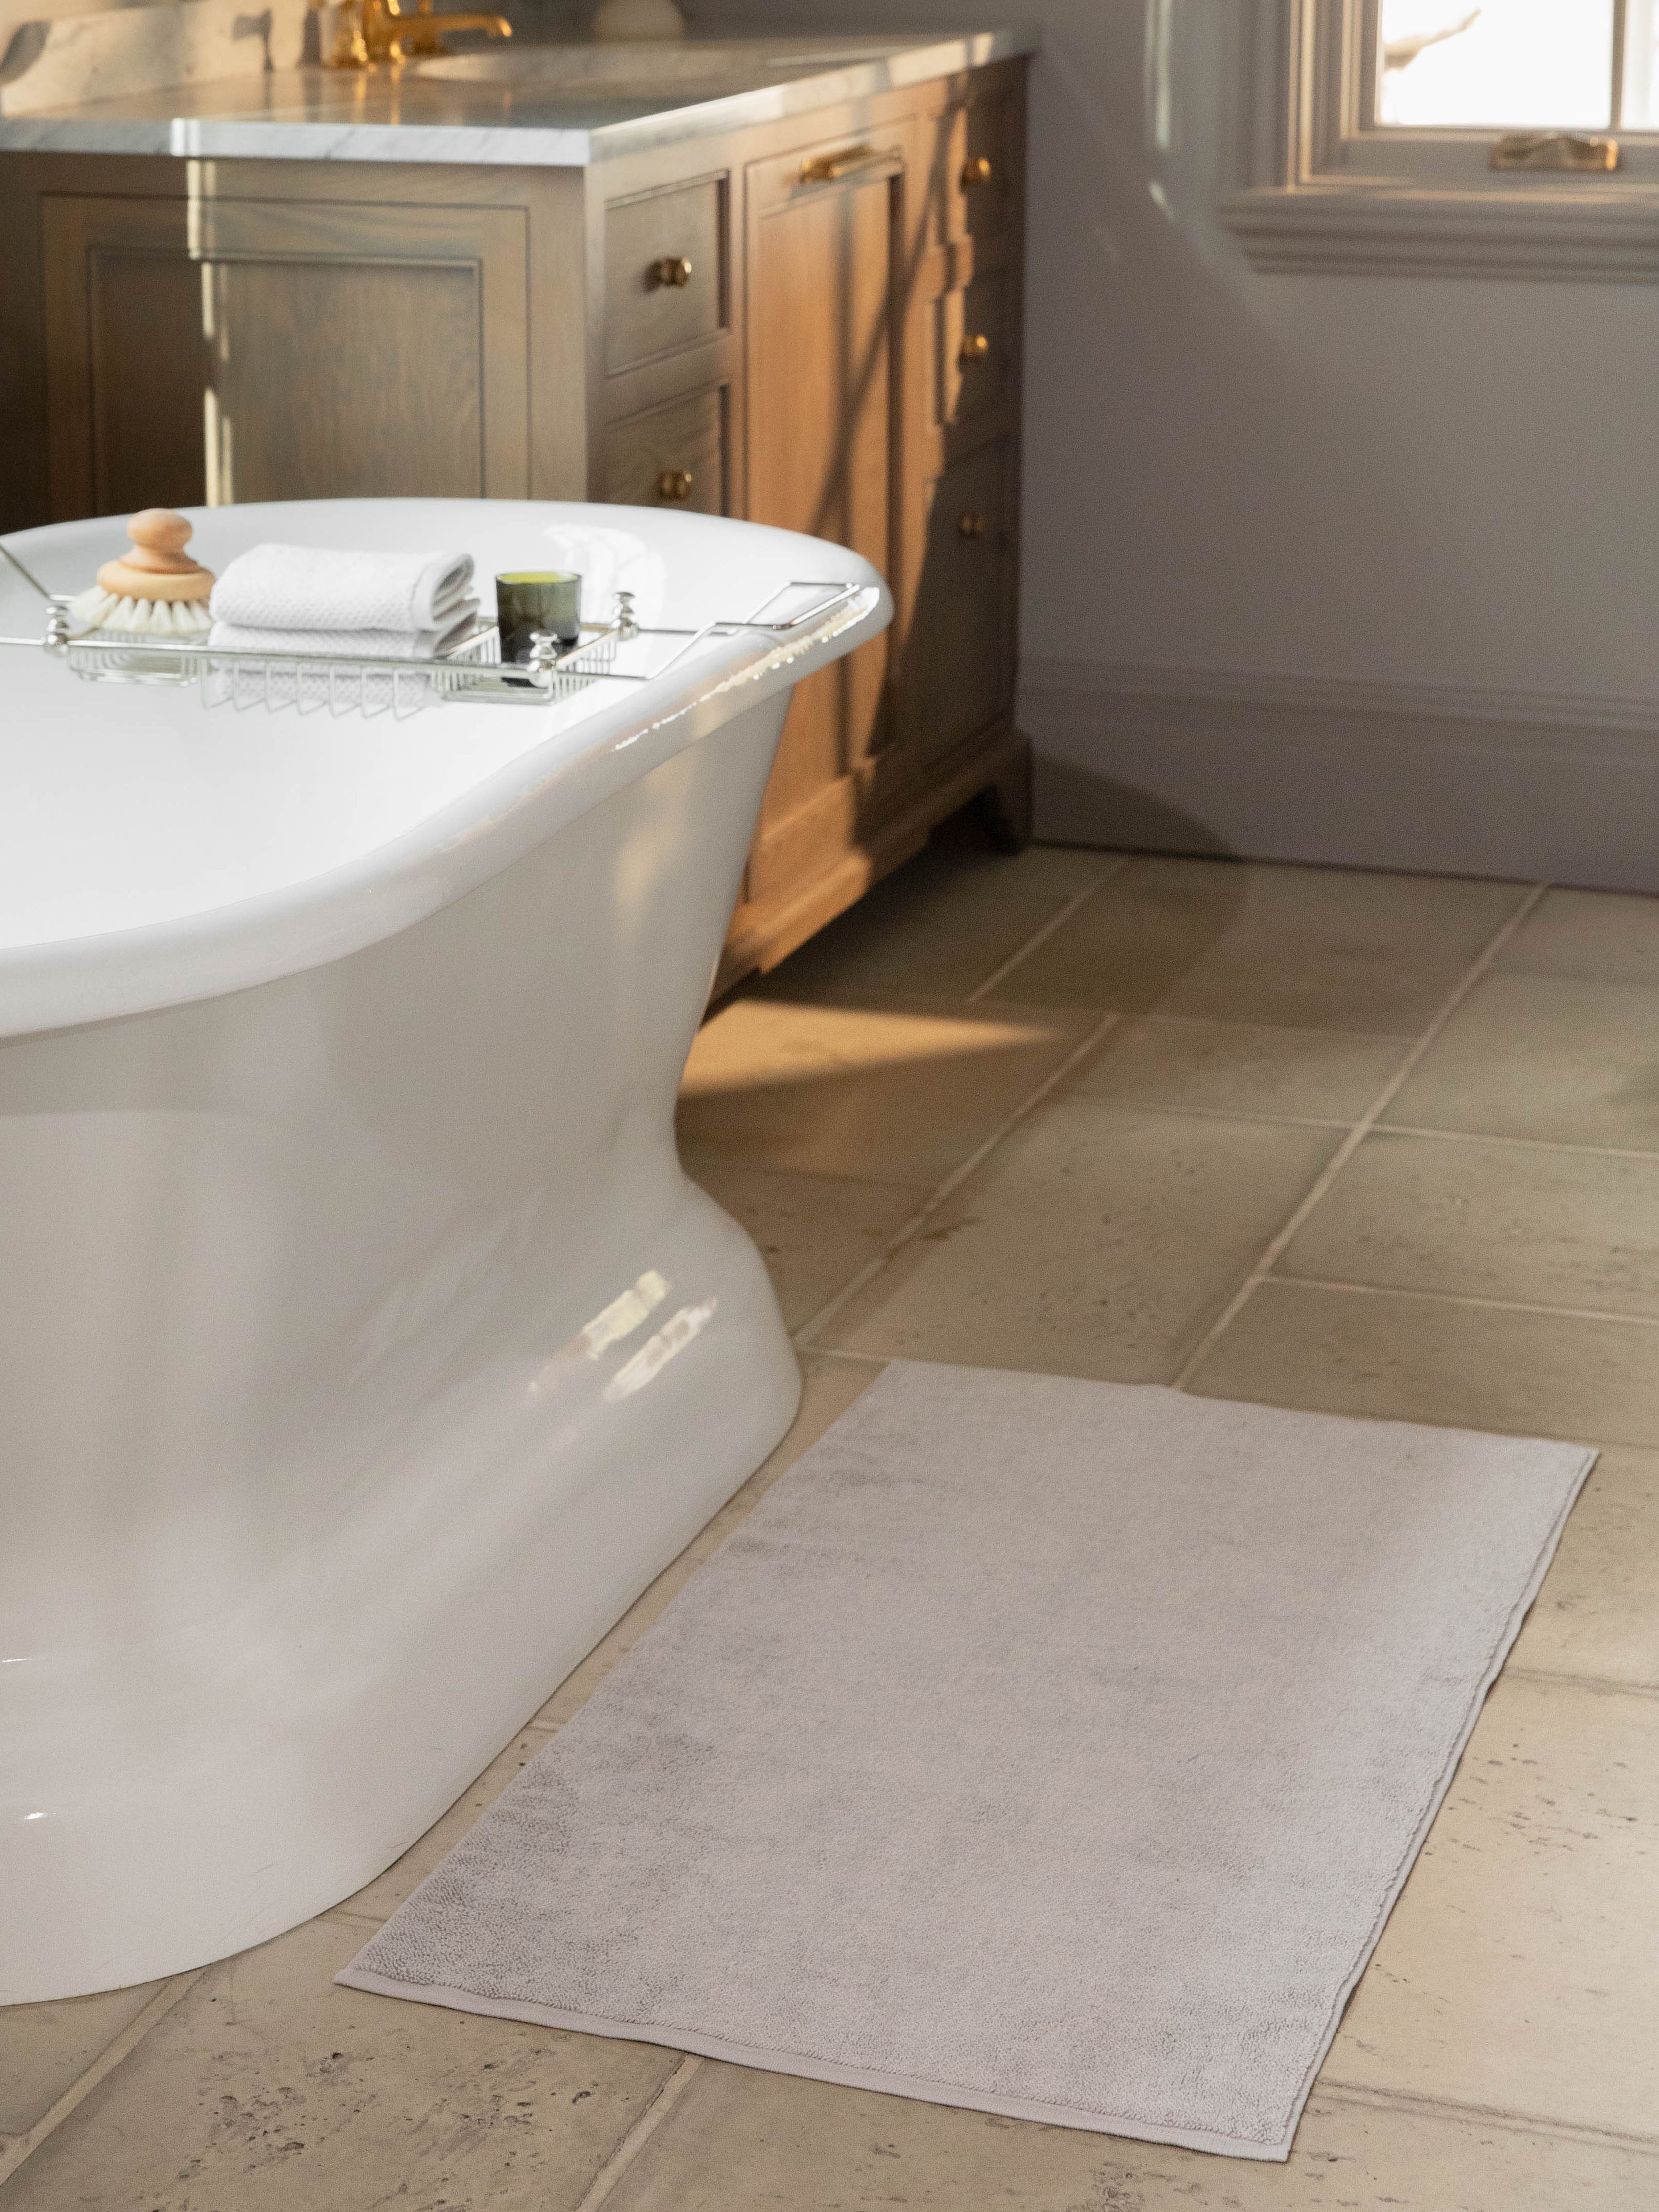
M 204 706 L 268 714 L 294 708 L 299 714 L 392 714 L 400 719 L 425 706 L 555 706 L 591 684 L 650 684 L 688 659 L 710 637 L 757 630 L 779 644 L 821 624 L 856 599 L 867 586 L 838 577 L 796 577 L 743 617 L 721 617 L 701 628 L 641 624 L 633 593 L 617 593 L 608 624 L 582 624 L 582 637 L 564 644 L 535 633 L 529 661 L 502 664 L 495 624 L 480 624 L 434 659 L 392 659 L 358 653 L 250 653 L 241 646 L 190 644 L 177 637 L 139 637 L 131 630 L 75 635 L 64 593 L 46 591 L 0 544 L 0 555 L 46 602 L 40 637 L 0 637 L 0 646 L 46 653 L 86 684 L 199 684 Z M 768 619 L 785 593 L 818 593 L 794 615 Z M 661 641 L 661 648 L 644 644 Z M 626 648 L 639 650 L 626 650 Z M 637 661 L 650 666 L 635 666 Z

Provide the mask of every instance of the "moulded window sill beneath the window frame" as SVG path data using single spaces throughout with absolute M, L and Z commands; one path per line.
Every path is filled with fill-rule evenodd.
M 1659 283 L 1659 186 L 1250 186 L 1221 221 L 1252 268 L 1318 276 Z

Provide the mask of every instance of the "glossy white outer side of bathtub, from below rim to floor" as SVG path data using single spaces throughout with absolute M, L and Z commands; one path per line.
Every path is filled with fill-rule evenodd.
M 372 1880 L 787 1429 L 672 1139 L 787 703 L 361 951 L 0 1042 L 0 2004 Z

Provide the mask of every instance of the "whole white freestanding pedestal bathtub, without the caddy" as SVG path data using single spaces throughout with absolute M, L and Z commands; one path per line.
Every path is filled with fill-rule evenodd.
M 369 1880 L 792 1420 L 672 1104 L 790 690 L 889 619 L 880 577 L 460 500 L 204 511 L 192 551 L 489 580 L 582 524 L 661 557 L 668 624 L 867 588 L 790 648 L 403 721 L 0 655 L 0 2002 Z M 122 526 L 11 544 L 69 591 Z M 40 617 L 0 586 L 0 630 Z

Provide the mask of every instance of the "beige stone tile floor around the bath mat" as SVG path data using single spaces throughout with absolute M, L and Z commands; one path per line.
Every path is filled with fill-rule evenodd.
M 1659 900 L 940 845 L 714 1013 L 681 1139 L 794 1431 L 358 1896 L 0 2013 L 0 2208 L 1659 2205 Z M 1287 2166 L 330 1980 L 891 1356 L 1606 1447 Z

